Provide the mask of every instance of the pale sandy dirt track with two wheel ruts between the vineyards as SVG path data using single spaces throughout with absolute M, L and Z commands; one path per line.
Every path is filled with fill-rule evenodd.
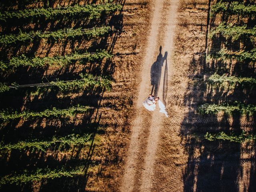
M 168 103 L 168 77 L 172 76 L 172 44 L 175 32 L 178 0 L 152 2 L 152 20 L 141 71 L 135 119 L 124 176 L 120 191 L 151 191 L 158 148 L 159 133 L 164 126 L 164 115 L 157 108 L 153 113 L 142 106 L 152 92 Z

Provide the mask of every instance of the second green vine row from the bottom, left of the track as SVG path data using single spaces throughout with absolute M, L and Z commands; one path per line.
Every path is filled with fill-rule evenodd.
M 47 141 L 40 141 L 38 139 L 32 141 L 19 141 L 15 144 L 3 144 L 0 143 L 0 150 L 7 149 L 32 149 L 32 150 L 42 150 L 45 151 L 46 149 L 50 148 L 53 145 L 58 144 L 58 148 L 62 148 L 64 146 L 75 146 L 75 145 L 82 145 L 90 140 L 91 134 L 85 134 L 83 136 L 71 134 L 61 138 L 52 138 L 52 140 Z

